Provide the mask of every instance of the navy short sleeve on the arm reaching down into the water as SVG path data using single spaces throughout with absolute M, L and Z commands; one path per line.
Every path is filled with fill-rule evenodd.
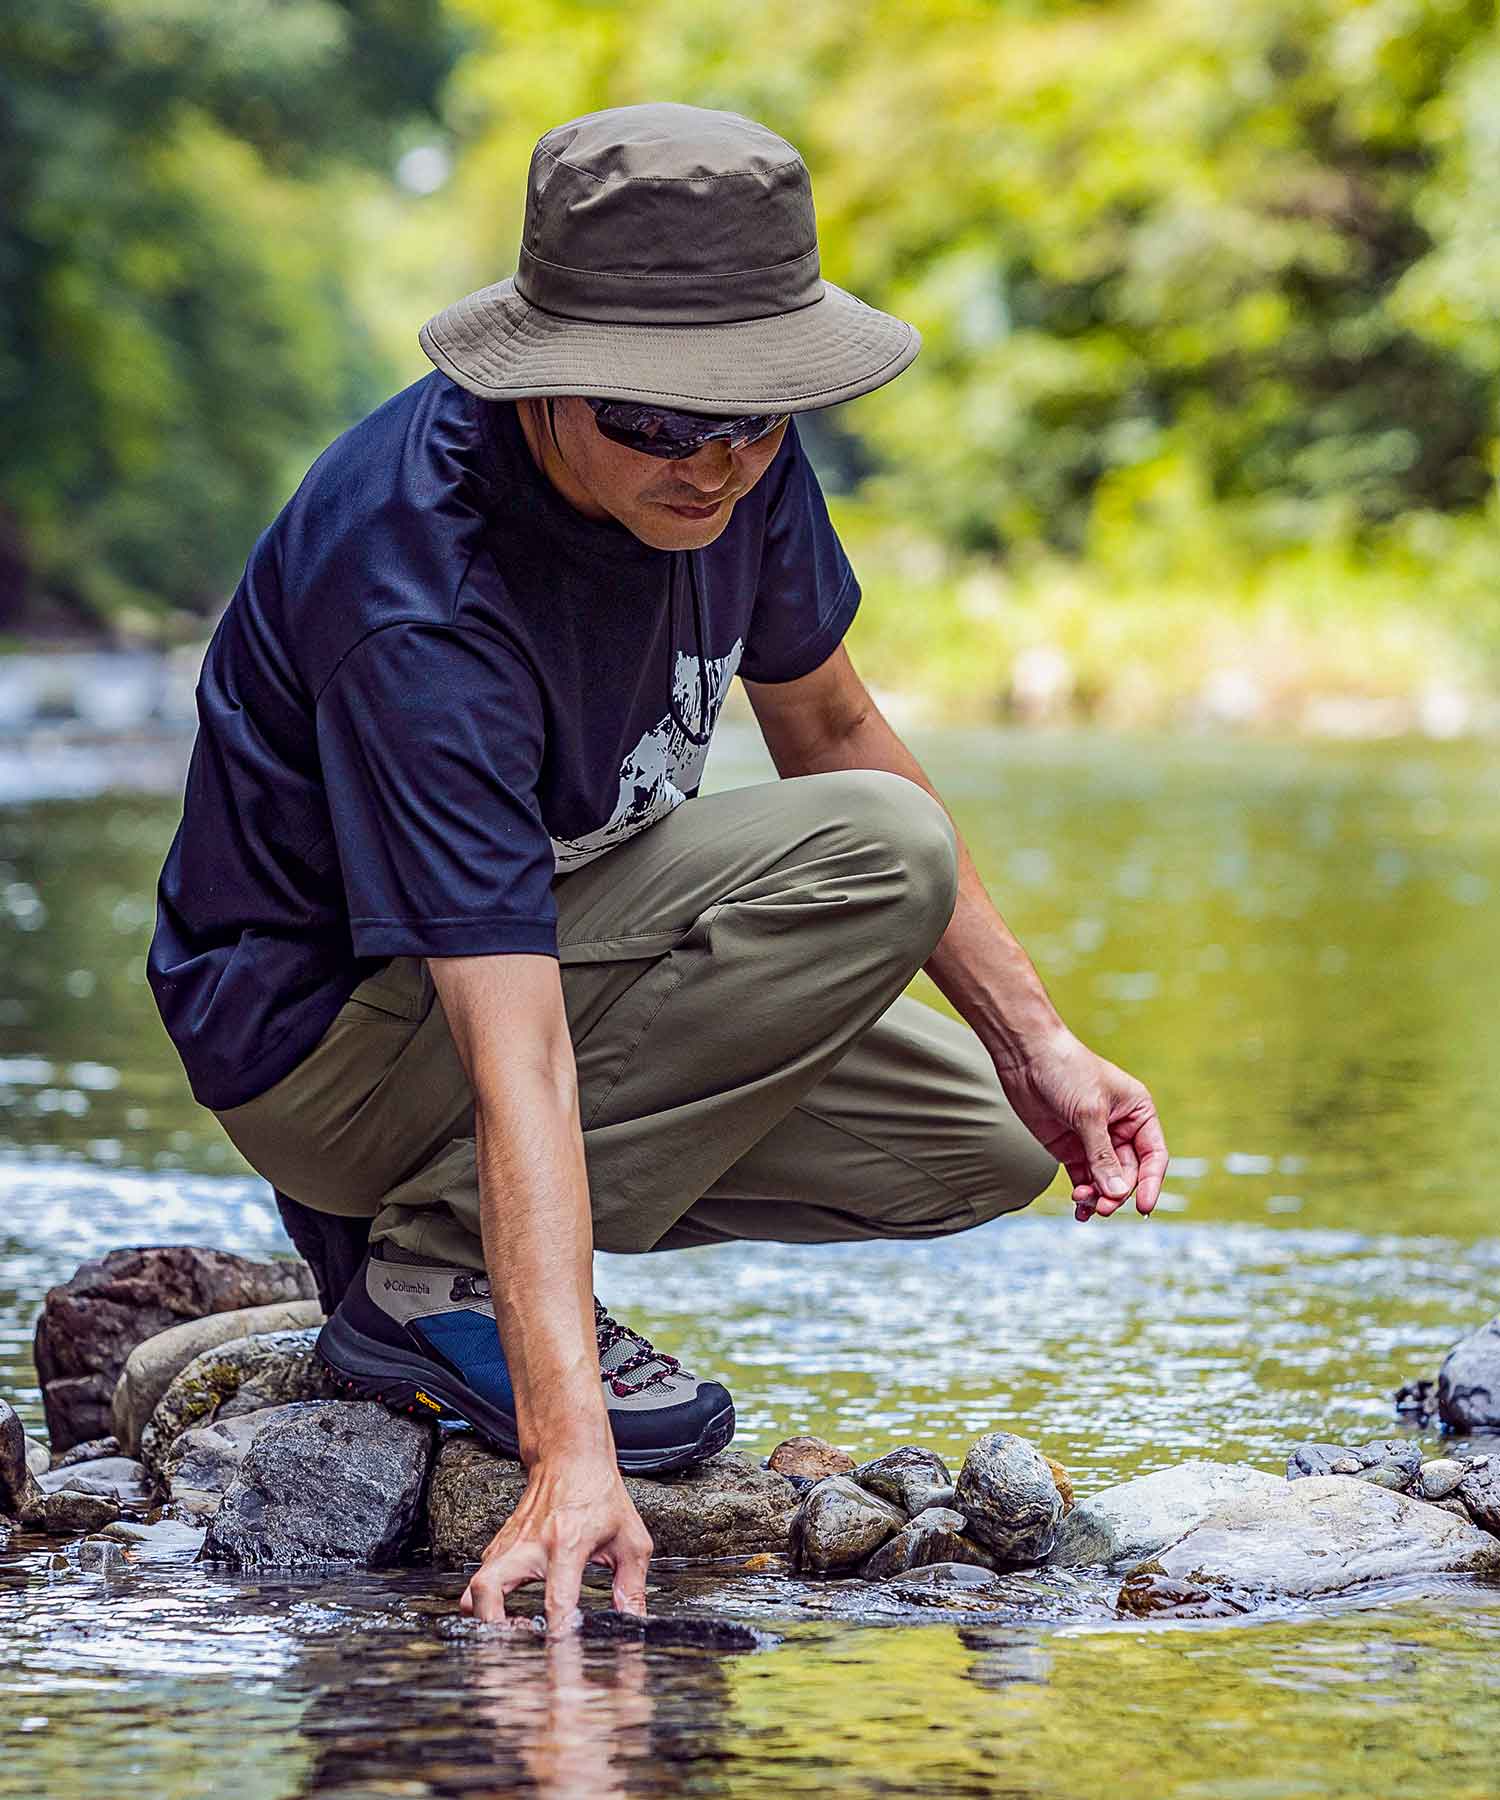
M 556 956 L 542 704 L 501 637 L 389 625 L 317 700 L 355 956 Z

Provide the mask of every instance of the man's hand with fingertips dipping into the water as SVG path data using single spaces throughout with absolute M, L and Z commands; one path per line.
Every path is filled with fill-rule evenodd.
M 614 1606 L 645 1615 L 650 1557 L 650 1532 L 616 1462 L 542 1460 L 531 1467 L 520 1505 L 490 1539 L 459 1611 L 502 1620 L 508 1593 L 546 1580 L 547 1633 L 565 1631 L 583 1588 L 583 1564 L 603 1562 L 614 1570 Z

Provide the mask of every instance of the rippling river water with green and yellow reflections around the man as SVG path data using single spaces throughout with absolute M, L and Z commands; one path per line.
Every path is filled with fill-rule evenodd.
M 1500 751 L 913 736 L 1064 1017 L 1152 1087 L 1161 1211 L 1080 1226 L 1059 1188 L 936 1244 L 600 1256 L 607 1305 L 722 1377 L 756 1454 L 956 1462 L 1005 1427 L 1091 1492 L 1396 1429 L 1500 1303 Z M 32 1427 L 31 1325 L 85 1255 L 285 1247 L 142 981 L 182 754 L 0 747 L 0 1393 Z M 767 774 L 722 727 L 709 785 Z M 654 1579 L 765 1647 L 547 1647 L 457 1620 L 457 1575 L 103 1575 L 16 1539 L 0 1796 L 1500 1787 L 1493 1588 L 1143 1627 L 1088 1582 L 893 1624 L 841 1584 Z

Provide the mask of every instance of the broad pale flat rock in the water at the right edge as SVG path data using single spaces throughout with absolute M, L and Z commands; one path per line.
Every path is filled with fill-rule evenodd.
M 1244 1494 L 1125 1577 L 1129 1615 L 1248 1613 L 1372 1580 L 1500 1575 L 1500 1543 L 1406 1494 L 1343 1476 Z

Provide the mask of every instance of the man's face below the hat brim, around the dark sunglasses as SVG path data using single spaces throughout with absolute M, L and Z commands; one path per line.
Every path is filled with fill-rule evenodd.
M 744 450 L 718 437 L 688 457 L 643 455 L 614 443 L 574 394 L 553 401 L 556 445 L 544 400 L 519 401 L 531 454 L 565 500 L 589 518 L 618 518 L 659 551 L 695 551 L 729 524 L 735 502 L 760 481 L 787 434 L 785 423 Z M 681 508 L 681 509 L 679 509 Z

